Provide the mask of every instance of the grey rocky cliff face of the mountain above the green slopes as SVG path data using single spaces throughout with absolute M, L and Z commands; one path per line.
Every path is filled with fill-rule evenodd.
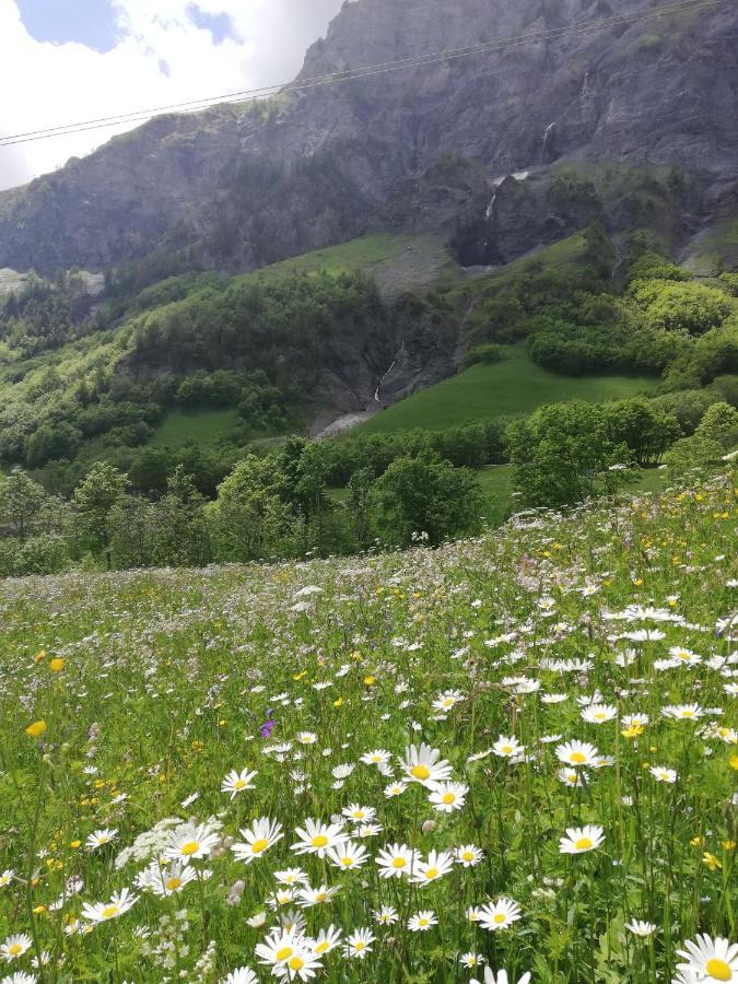
M 245 270 L 398 216 L 448 230 L 468 262 L 495 262 L 601 212 L 602 196 L 597 207 L 570 202 L 569 211 L 552 200 L 551 175 L 565 161 L 683 169 L 699 191 L 688 202 L 684 235 L 693 236 L 738 179 L 738 8 L 723 2 L 581 30 L 657 5 L 347 3 L 307 52 L 302 80 L 480 42 L 572 33 L 268 105 L 153 120 L 0 195 L 0 267 L 99 270 L 159 249 L 184 266 Z M 449 167 L 452 152 L 471 163 Z M 513 173 L 518 177 L 507 177 Z M 618 208 L 606 203 L 606 213 L 617 226 Z

